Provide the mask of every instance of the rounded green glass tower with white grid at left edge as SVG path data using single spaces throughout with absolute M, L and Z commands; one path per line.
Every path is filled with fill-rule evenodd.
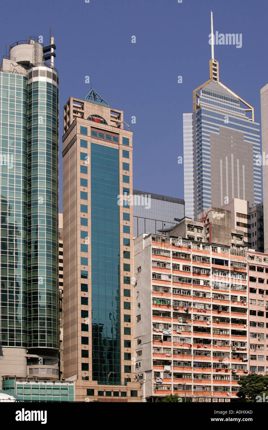
M 1 375 L 59 375 L 54 49 L 54 38 L 43 47 L 30 37 L 9 46 L 0 68 Z

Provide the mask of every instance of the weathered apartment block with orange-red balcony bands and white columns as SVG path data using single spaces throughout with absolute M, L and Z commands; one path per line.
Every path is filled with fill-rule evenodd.
M 246 251 L 144 234 L 134 240 L 134 276 L 142 401 L 235 399 L 249 372 Z

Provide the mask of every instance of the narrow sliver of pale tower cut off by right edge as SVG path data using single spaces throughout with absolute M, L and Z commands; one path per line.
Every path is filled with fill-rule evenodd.
M 264 251 L 268 252 L 268 84 L 261 89 L 261 114 Z

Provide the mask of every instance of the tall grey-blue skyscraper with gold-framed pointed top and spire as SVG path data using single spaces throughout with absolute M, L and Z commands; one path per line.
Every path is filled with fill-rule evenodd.
M 234 198 L 262 201 L 259 124 L 253 107 L 219 81 L 211 47 L 209 80 L 193 92 L 193 113 L 183 115 L 185 215 L 195 219 Z

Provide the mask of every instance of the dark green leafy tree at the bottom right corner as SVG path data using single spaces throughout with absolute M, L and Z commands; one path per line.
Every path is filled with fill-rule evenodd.
M 250 373 L 242 376 L 238 381 L 240 385 L 237 397 L 243 402 L 256 402 L 256 397 L 268 394 L 268 375 L 257 375 Z

